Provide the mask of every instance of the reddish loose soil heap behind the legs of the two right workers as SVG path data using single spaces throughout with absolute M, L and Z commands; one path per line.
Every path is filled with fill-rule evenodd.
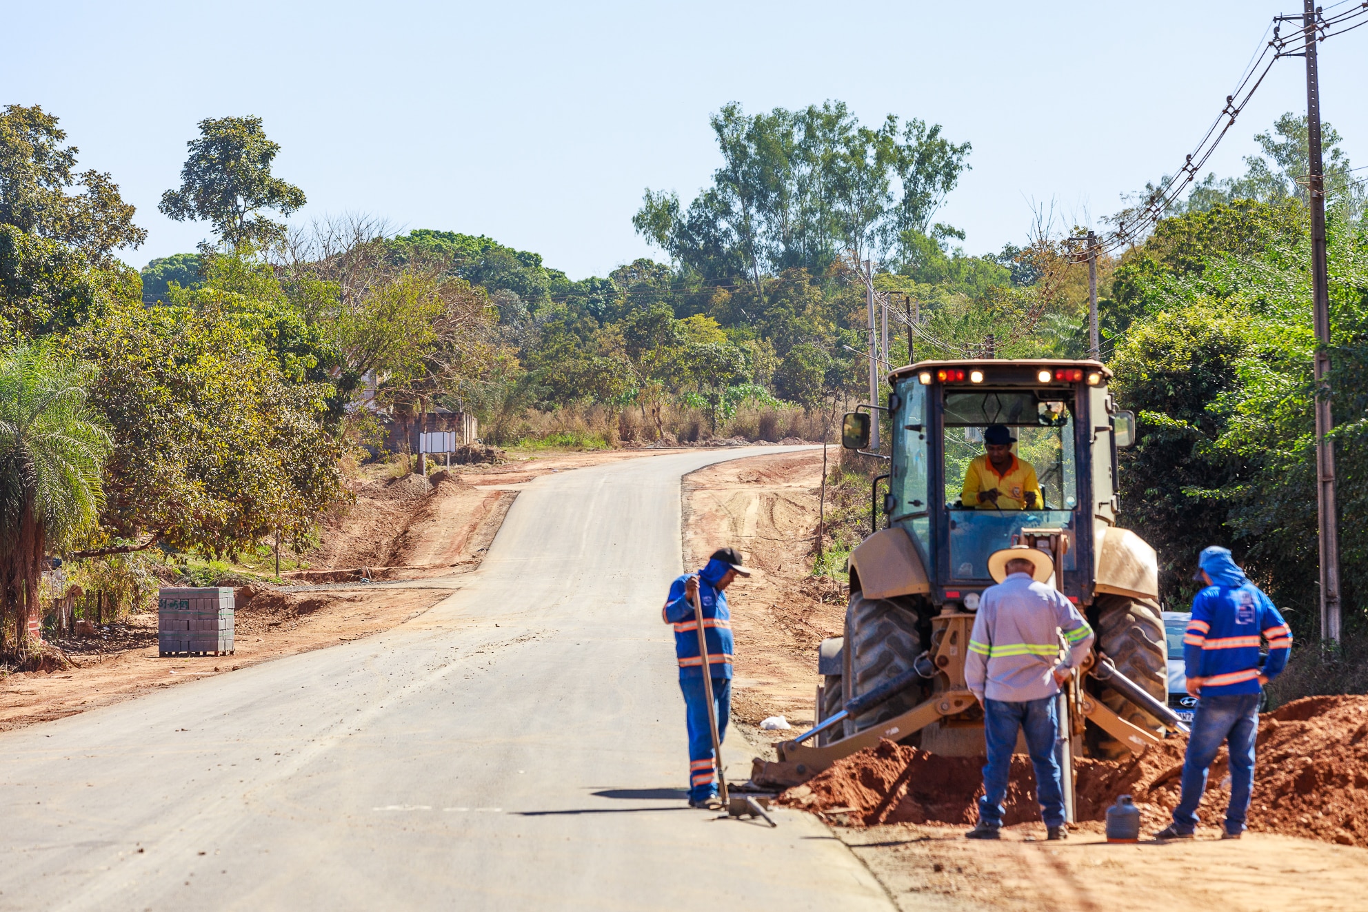
M 1107 808 L 1130 794 L 1146 831 L 1168 823 L 1178 804 L 1183 738 L 1170 738 L 1124 760 L 1079 759 L 1077 816 L 1105 820 Z M 840 823 L 973 823 L 982 794 L 984 757 L 947 757 L 881 741 L 839 760 L 780 804 L 822 812 Z M 1224 749 L 1211 767 L 1201 804 L 1218 823 L 1230 800 Z M 1012 757 L 1004 823 L 1040 819 L 1030 760 Z M 1368 697 L 1305 697 L 1260 719 L 1259 760 L 1249 827 L 1341 845 L 1368 846 Z

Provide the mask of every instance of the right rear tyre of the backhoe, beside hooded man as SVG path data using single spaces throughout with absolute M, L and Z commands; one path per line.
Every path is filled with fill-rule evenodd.
M 1099 595 L 1093 602 L 1097 618 L 1097 649 L 1116 665 L 1116 670 L 1144 688 L 1160 703 L 1168 693 L 1168 665 L 1164 656 L 1164 621 L 1159 607 L 1124 595 Z M 1163 725 L 1107 685 L 1097 688 L 1097 697 L 1112 712 L 1150 732 Z M 1127 753 L 1126 748 L 1096 730 L 1096 749 L 1108 757 Z

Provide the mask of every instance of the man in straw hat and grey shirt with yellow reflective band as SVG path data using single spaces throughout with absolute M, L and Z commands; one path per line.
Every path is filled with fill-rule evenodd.
M 1093 629 L 1064 598 L 1048 585 L 1055 572 L 1048 554 L 1025 544 L 993 552 L 988 572 L 997 585 L 984 591 L 969 636 L 964 681 L 984 707 L 984 797 L 970 840 L 996 840 L 1003 826 L 1003 800 L 1016 747 L 1016 732 L 1036 768 L 1036 799 L 1051 840 L 1068 835 L 1064 792 L 1055 741 L 1060 719 L 1059 689 L 1078 669 L 1093 644 Z M 1060 634 L 1068 651 L 1060 645 Z M 1063 658 L 1060 658 L 1063 654 Z

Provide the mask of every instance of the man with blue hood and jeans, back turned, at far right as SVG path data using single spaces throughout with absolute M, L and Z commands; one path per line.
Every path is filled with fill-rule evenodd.
M 1207 790 L 1207 771 L 1222 744 L 1230 748 L 1230 805 L 1223 840 L 1245 831 L 1254 786 L 1254 741 L 1264 685 L 1287 666 L 1291 629 L 1263 591 L 1235 566 L 1228 548 L 1209 547 L 1198 558 L 1193 578 L 1207 588 L 1193 599 L 1183 636 L 1187 693 L 1197 697 L 1193 730 L 1183 756 L 1183 793 L 1174 822 L 1156 840 L 1190 840 L 1197 830 L 1197 805 Z M 1268 641 L 1260 669 L 1259 640 Z

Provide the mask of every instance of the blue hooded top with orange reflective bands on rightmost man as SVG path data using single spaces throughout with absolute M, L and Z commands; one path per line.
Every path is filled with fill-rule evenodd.
M 1183 636 L 1187 677 L 1201 680 L 1202 696 L 1259 693 L 1259 637 L 1268 640 L 1263 674 L 1272 680 L 1287 666 L 1291 630 L 1227 548 L 1207 548 L 1198 562 L 1212 585 L 1193 599 Z

